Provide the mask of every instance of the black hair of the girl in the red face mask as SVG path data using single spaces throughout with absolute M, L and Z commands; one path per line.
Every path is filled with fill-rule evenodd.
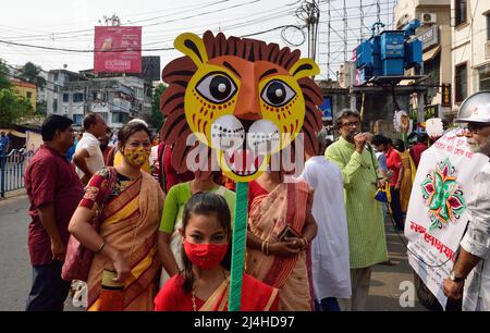
M 215 215 L 220 222 L 224 232 L 231 238 L 232 227 L 231 227 L 231 212 L 228 207 L 226 200 L 220 195 L 210 192 L 199 192 L 191 197 L 191 199 L 185 205 L 184 213 L 182 217 L 182 230 L 185 233 L 188 220 L 192 215 Z M 226 254 L 223 260 L 221 260 L 221 266 L 230 270 L 231 269 L 231 254 L 232 246 L 231 243 L 228 246 Z M 185 293 L 191 293 L 193 289 L 194 278 L 193 278 L 193 264 L 185 254 L 184 247 L 181 249 L 182 261 L 184 262 L 184 291 Z

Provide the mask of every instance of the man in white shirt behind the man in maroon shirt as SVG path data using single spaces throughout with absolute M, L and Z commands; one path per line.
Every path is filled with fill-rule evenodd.
M 76 173 L 84 185 L 88 184 L 91 176 L 101 170 L 106 163 L 103 161 L 100 143 L 97 139 L 106 135 L 106 121 L 96 113 L 88 113 L 84 118 L 84 135 L 76 145 L 73 162 L 76 165 Z

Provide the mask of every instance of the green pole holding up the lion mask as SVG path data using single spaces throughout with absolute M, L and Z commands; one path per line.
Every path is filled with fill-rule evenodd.
M 232 267 L 228 310 L 240 311 L 242 278 L 245 262 L 248 213 L 248 183 L 236 183 L 235 215 L 233 222 Z

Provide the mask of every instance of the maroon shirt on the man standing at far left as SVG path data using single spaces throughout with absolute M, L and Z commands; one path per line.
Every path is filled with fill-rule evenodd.
M 54 217 L 62 242 L 69 240 L 68 225 L 84 195 L 83 185 L 73 166 L 57 150 L 41 146 L 33 157 L 24 175 L 29 197 L 32 222 L 28 248 L 33 266 L 52 263 L 51 239 L 42 226 L 37 209 L 54 205 Z

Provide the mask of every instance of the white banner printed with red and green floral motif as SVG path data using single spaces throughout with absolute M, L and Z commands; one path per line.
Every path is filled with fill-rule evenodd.
M 443 280 L 469 220 L 473 177 L 486 163 L 488 157 L 473 153 L 451 131 L 422 153 L 417 169 L 405 222 L 408 261 L 444 308 Z

